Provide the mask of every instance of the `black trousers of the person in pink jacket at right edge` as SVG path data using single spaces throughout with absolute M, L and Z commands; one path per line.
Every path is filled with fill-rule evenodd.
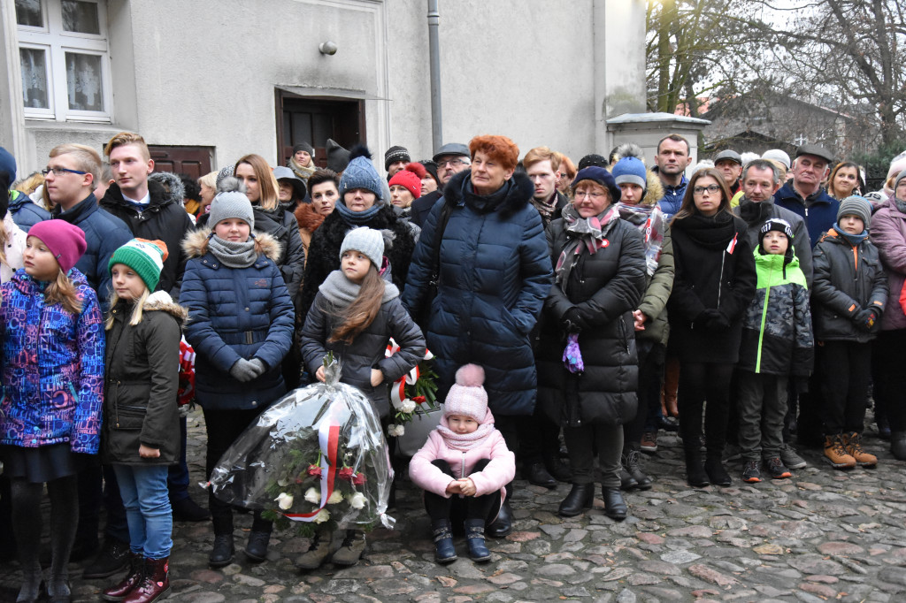
M 882 330 L 872 345 L 874 414 L 886 413 L 891 431 L 906 431 L 906 329 Z

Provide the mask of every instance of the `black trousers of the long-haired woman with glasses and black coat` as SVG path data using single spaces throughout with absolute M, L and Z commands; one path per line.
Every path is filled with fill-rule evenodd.
M 705 419 L 705 448 L 720 458 L 727 443 L 730 380 L 734 365 L 682 362 L 679 369 L 679 433 L 686 448 L 698 450 Z M 708 405 L 705 405 L 708 400 Z

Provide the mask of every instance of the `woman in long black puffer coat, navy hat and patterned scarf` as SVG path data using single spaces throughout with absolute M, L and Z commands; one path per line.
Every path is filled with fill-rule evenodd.
M 559 512 L 567 517 L 592 507 L 595 448 L 604 512 L 617 520 L 628 512 L 620 492 L 622 426 L 637 406 L 632 311 L 646 278 L 641 233 L 620 218 L 620 196 L 610 172 L 584 168 L 573 203 L 547 227 L 555 282 L 538 346 L 538 403 L 564 428 L 573 489 Z M 576 344 L 583 368 L 564 362 L 564 349 L 571 354 Z

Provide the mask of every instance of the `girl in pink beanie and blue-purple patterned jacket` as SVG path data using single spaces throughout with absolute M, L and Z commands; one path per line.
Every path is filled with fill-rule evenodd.
M 0 453 L 10 478 L 22 564 L 18 603 L 40 596 L 43 484 L 51 498 L 52 601 L 70 600 L 69 562 L 79 513 L 76 474 L 101 432 L 104 334 L 98 298 L 73 266 L 85 235 L 63 220 L 32 226 L 24 268 L 0 287 L 4 397 Z

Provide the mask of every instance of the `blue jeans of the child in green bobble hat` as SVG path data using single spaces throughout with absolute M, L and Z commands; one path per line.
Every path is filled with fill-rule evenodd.
M 167 465 L 114 464 L 129 522 L 130 549 L 148 559 L 169 557 L 173 513 L 167 495 Z

